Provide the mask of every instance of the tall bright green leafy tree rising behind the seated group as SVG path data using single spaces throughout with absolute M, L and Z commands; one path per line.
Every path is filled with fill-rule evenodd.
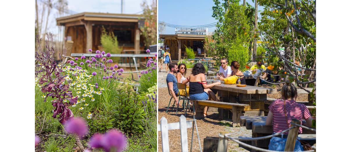
M 208 50 L 210 56 L 217 60 L 217 65 L 222 57 L 227 57 L 229 62 L 237 60 L 241 65 L 247 63 L 249 49 L 251 50 L 252 47 L 253 33 L 246 32 L 241 35 L 237 33 L 237 30 L 241 27 L 244 27 L 246 31 L 252 30 L 253 16 L 244 15 L 244 8 L 252 9 L 251 5 L 247 4 L 244 7 L 239 4 L 239 0 L 213 1 L 215 5 L 212 7 L 212 17 L 218 22 L 212 37 L 205 40 L 205 49 Z

